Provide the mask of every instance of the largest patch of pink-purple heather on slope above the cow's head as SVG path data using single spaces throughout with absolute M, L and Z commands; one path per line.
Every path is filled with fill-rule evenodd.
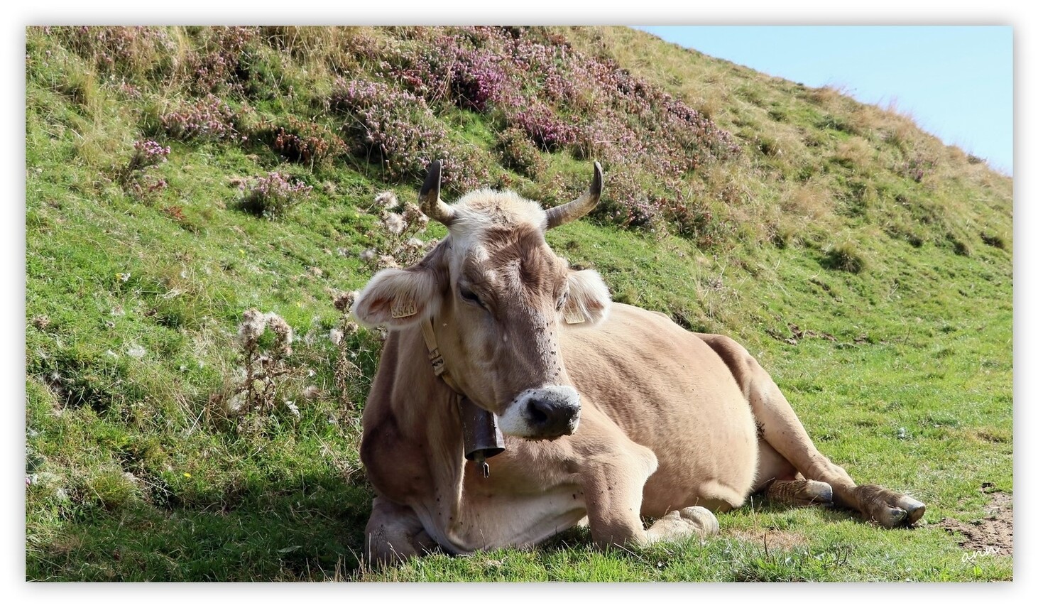
M 443 103 L 496 112 L 491 123 L 503 118 L 506 125 L 498 137 L 502 164 L 535 181 L 546 164 L 540 149 L 566 150 L 581 160 L 623 166 L 637 183 L 658 185 L 653 192 L 631 188 L 612 209 L 600 206 L 596 211 L 599 217 L 632 228 L 654 230 L 661 219 L 681 214 L 680 204 L 660 193 L 687 189 L 692 171 L 739 153 L 731 133 L 680 99 L 609 59 L 574 50 L 543 28 L 426 28 L 409 30 L 408 37 L 413 44 L 366 49 L 380 60 L 377 76 L 402 84 L 407 92 L 355 81 L 357 95 L 352 98 L 362 106 L 360 123 L 370 130 L 368 141 L 384 144 L 367 152 L 386 163 L 390 178 L 415 170 L 412 150 L 431 156 L 428 146 L 410 148 L 408 135 L 427 124 L 421 116 L 428 107 Z M 365 123 L 364 112 L 375 107 L 395 110 L 379 113 L 381 123 Z M 348 111 L 358 114 L 352 106 Z M 384 120 L 389 115 L 397 120 Z M 458 170 L 471 171 L 471 158 L 456 158 L 463 161 Z M 449 162 L 444 183 L 448 168 Z M 416 173 L 424 175 L 420 167 Z M 919 174 L 916 167 L 906 173 Z M 557 188 L 551 192 L 562 193 Z

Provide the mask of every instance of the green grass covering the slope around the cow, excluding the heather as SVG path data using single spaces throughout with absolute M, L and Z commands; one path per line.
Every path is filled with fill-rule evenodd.
M 988 493 L 1013 492 L 1011 181 L 836 91 L 633 30 L 555 29 L 574 49 L 606 53 L 709 110 L 744 152 L 689 182 L 715 210 L 712 245 L 597 216 L 550 232 L 549 243 L 601 272 L 614 300 L 738 339 L 823 452 L 859 482 L 926 502 L 925 523 L 883 530 L 845 511 L 755 497 L 720 514 L 720 535 L 704 543 L 599 552 L 573 530 L 529 551 L 361 566 L 373 495 L 357 453 L 359 417 L 380 343 L 374 333 L 348 336 L 352 366 L 343 368 L 328 338 L 343 321 L 332 295 L 362 287 L 373 268 L 359 254 L 389 242 L 376 194 L 414 201 L 419 184 L 385 182 L 349 154 L 311 165 L 284 162 L 255 140 L 170 139 L 168 161 L 146 173 L 167 185 L 134 191 L 116 177 L 135 140 L 158 136 L 155 108 L 198 97 L 167 55 L 201 48 L 211 32 L 167 28 L 168 51 L 110 72 L 55 32 L 32 29 L 27 579 L 1012 579 L 1012 557 L 971 554 L 940 524 L 980 520 Z M 274 34 L 264 38 L 245 92 L 229 96 L 236 108 L 325 121 L 317 91 L 371 69 L 329 46 L 357 31 L 304 28 L 296 33 L 305 49 L 290 55 L 274 50 Z M 124 91 L 124 78 L 139 96 Z M 497 158 L 492 117 L 438 115 L 453 141 Z M 930 164 L 916 181 L 903 167 L 920 155 Z M 493 165 L 492 180 L 555 204 L 590 177 L 590 163 L 568 152 L 542 158 L 538 179 Z M 242 211 L 238 187 L 270 170 L 313 188 L 273 220 Z M 622 171 L 607 169 L 606 196 Z M 419 236 L 443 234 L 433 226 Z M 231 415 L 223 405 L 243 363 L 235 337 L 250 308 L 292 325 L 293 374 L 272 409 Z

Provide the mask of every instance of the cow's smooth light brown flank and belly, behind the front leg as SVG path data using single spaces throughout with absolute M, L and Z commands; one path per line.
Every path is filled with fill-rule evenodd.
M 564 332 L 562 342 L 584 406 L 604 412 L 659 459 L 644 514 L 742 503 L 756 474 L 754 418 L 732 370 L 706 342 L 663 315 L 621 303 L 594 328 Z

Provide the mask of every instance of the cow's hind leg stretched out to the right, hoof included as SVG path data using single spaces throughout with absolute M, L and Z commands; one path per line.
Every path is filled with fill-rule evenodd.
M 819 452 L 782 391 L 745 348 L 722 336 L 701 338 L 725 360 L 739 381 L 762 439 L 803 478 L 828 483 L 834 502 L 887 528 L 908 526 L 923 517 L 926 505 L 922 502 L 879 485 L 857 485 L 842 467 Z

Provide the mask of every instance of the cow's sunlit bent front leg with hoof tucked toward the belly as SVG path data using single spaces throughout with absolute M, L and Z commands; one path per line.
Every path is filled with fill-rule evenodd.
M 613 445 L 609 453 L 597 454 L 583 464 L 588 524 L 596 546 L 644 547 L 717 533 L 717 518 L 702 506 L 671 511 L 646 530 L 641 495 L 646 480 L 656 470 L 656 455 L 632 442 L 622 443 L 627 445 Z

